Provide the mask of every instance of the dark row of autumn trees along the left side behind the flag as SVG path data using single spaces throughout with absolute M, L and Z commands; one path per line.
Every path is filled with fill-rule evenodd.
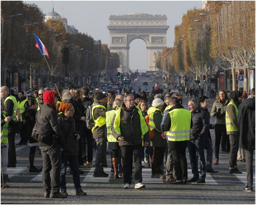
M 63 47 L 69 48 L 68 84 L 73 82 L 82 87 L 96 82 L 106 72 L 116 73 L 119 67 L 119 55 L 111 53 L 101 40 L 87 33 L 67 33 L 61 20 L 43 23 L 43 12 L 35 4 L 2 1 L 1 86 L 14 86 L 23 91 L 44 85 L 54 87 L 46 61 L 35 47 L 34 34 L 48 50 L 47 61 L 59 88 L 64 86 L 65 79 Z

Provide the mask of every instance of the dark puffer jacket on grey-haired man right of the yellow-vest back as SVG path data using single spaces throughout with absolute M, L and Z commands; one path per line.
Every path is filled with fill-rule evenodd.
M 190 129 L 190 141 L 197 138 L 204 139 L 209 132 L 209 115 L 206 111 L 198 107 L 192 112 L 193 127 Z

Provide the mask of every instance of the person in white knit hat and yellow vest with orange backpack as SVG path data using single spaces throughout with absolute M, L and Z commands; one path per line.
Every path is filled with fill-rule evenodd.
M 168 147 L 168 143 L 165 137 L 162 137 L 161 132 L 161 121 L 163 118 L 163 113 L 161 109 L 163 108 L 164 102 L 161 99 L 154 99 L 152 102 L 152 107 L 148 109 L 149 114 L 149 129 L 154 131 L 154 138 L 152 141 L 153 155 L 152 155 L 152 178 L 165 178 L 162 175 L 163 170 L 160 169 L 163 158 L 165 156 L 165 147 Z

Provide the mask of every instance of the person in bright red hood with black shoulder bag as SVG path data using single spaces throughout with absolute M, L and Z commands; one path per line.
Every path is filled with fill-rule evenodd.
M 57 112 L 54 109 L 54 91 L 44 91 L 44 104 L 41 106 L 37 114 L 37 122 L 41 125 L 47 123 L 52 128 L 52 134 L 58 136 L 55 145 L 53 143 L 45 144 L 39 142 L 39 146 L 43 158 L 42 183 L 44 188 L 44 198 L 59 198 L 65 199 L 67 196 L 59 192 L 60 173 L 61 173 L 61 147 L 65 147 L 64 136 L 61 131 L 61 126 L 58 123 Z M 53 135 L 49 136 L 52 137 Z M 50 171 L 52 170 L 52 178 Z

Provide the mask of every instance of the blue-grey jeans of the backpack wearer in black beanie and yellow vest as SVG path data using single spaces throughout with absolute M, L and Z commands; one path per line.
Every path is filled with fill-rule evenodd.
M 97 149 L 96 149 L 97 151 L 95 156 L 94 173 L 99 174 L 104 172 L 102 161 L 106 154 L 107 140 L 105 137 L 99 137 L 99 138 L 96 138 L 95 141 L 97 143 Z

